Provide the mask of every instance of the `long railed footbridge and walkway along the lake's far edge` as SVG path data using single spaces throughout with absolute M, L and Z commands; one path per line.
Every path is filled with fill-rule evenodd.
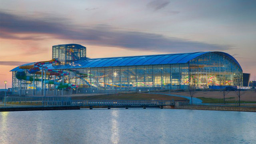
M 174 106 L 174 100 L 72 100 L 71 97 L 5 97 L 4 104 L 29 106 L 80 106 L 95 108 L 163 108 Z

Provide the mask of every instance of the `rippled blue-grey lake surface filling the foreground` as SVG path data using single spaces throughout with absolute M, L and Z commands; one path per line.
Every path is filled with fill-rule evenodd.
M 255 112 L 172 109 L 0 112 L 0 144 L 255 142 Z

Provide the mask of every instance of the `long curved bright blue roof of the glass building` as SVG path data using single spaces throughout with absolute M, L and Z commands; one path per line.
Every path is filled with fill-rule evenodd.
M 147 56 L 124 56 L 124 57 L 112 57 L 112 58 L 86 58 L 72 62 L 70 64 L 62 66 L 52 66 L 48 64 L 49 69 L 68 69 L 68 68 L 98 68 L 98 67 L 112 67 L 112 66 L 143 66 L 143 65 L 156 65 L 156 64 L 186 64 L 190 60 L 210 52 L 193 52 L 182 54 L 158 54 Z M 225 55 L 233 60 L 240 68 L 240 64 L 234 57 L 225 52 L 214 52 L 221 55 Z M 24 64 L 22 66 L 30 65 Z M 242 69 L 242 68 L 241 68 Z M 18 67 L 11 71 L 19 70 Z

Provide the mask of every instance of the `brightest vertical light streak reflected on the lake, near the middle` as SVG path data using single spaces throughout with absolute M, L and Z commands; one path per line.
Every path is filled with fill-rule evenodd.
M 112 144 L 118 144 L 119 142 L 119 134 L 118 134 L 118 112 L 119 110 L 112 110 L 112 129 L 111 129 L 111 141 Z

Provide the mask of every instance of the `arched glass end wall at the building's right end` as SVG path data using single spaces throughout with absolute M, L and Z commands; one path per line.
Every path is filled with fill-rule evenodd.
M 242 69 L 228 56 L 211 52 L 189 62 L 190 84 L 198 88 L 208 86 L 238 86 Z

